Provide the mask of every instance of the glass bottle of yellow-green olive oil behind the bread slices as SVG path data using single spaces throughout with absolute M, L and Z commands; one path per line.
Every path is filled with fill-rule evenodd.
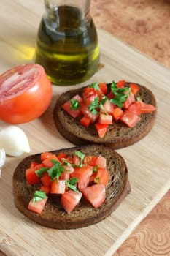
M 36 63 L 54 84 L 73 85 L 92 77 L 98 69 L 96 27 L 90 17 L 90 0 L 45 0 L 36 39 Z

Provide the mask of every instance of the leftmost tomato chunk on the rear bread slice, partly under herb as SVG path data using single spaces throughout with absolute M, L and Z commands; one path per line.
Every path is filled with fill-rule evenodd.
M 72 97 L 72 99 L 75 99 L 79 102 L 79 104 L 82 103 L 82 97 L 80 97 L 79 95 L 75 95 L 74 97 Z M 77 118 L 78 116 L 80 116 L 81 111 L 80 108 L 78 109 L 73 109 L 71 110 L 71 101 L 68 100 L 67 102 L 65 102 L 62 105 L 63 110 L 65 110 L 67 113 L 69 113 L 70 116 L 72 116 L 73 118 Z

